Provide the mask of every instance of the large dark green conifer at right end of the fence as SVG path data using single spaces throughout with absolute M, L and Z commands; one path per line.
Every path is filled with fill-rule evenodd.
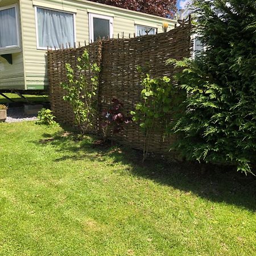
M 187 111 L 174 124 L 176 147 L 188 159 L 250 172 L 256 155 L 256 2 L 194 5 L 205 49 L 194 61 L 175 61 L 184 68 L 176 80 L 187 92 Z

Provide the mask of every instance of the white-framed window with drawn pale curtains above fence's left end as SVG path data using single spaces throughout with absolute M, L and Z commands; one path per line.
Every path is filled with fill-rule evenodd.
M 73 14 L 37 8 L 39 47 L 74 46 Z

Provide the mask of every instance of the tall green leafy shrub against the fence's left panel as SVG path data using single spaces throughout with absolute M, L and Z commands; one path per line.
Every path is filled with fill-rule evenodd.
M 68 101 L 75 114 L 75 122 L 82 134 L 93 127 L 94 116 L 97 109 L 98 73 L 100 67 L 96 63 L 90 64 L 89 53 L 84 51 L 81 57 L 77 58 L 78 74 L 70 64 L 65 64 L 67 69 L 68 82 L 62 82 L 61 87 L 67 92 L 63 96 Z M 87 72 L 87 73 L 86 73 Z M 92 75 L 88 81 L 88 74 Z

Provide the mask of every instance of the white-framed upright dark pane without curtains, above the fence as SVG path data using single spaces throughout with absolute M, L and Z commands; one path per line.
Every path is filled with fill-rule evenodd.
M 95 42 L 99 38 L 112 38 L 113 17 L 89 14 L 90 42 Z

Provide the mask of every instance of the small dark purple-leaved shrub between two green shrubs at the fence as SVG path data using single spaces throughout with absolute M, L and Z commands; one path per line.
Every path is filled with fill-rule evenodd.
M 131 118 L 125 117 L 121 112 L 123 103 L 117 98 L 112 99 L 112 106 L 110 109 L 104 109 L 102 111 L 102 116 L 105 117 L 104 121 L 101 124 L 101 127 L 104 128 L 104 139 L 108 137 L 108 128 L 112 127 L 112 133 L 119 133 L 124 130 L 123 125 L 131 122 Z M 113 135 L 112 134 L 112 135 Z

